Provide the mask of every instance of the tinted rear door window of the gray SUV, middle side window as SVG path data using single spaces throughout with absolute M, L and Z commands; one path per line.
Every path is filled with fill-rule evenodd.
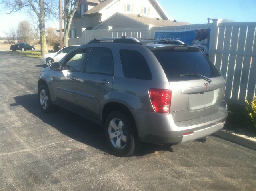
M 114 74 L 114 63 L 111 50 L 108 48 L 92 48 L 85 72 L 97 74 Z

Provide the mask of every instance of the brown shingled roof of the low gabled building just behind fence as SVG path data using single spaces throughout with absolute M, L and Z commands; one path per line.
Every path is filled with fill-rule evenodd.
M 104 22 L 96 26 L 94 29 L 97 29 L 100 25 L 108 22 L 110 19 L 112 19 L 115 16 L 122 16 L 128 19 L 135 20 L 136 22 L 140 22 L 144 25 L 153 25 L 154 27 L 161 27 L 161 26 L 178 26 L 178 25 L 189 25 L 190 23 L 188 22 L 174 22 L 171 20 L 161 20 L 161 19 L 155 19 L 155 18 L 150 18 L 147 16 L 141 16 L 141 15 L 136 15 L 136 14 L 124 14 L 124 13 L 118 13 L 116 12 L 114 15 L 112 15 L 110 18 L 106 19 Z M 114 27 L 114 26 L 113 26 Z

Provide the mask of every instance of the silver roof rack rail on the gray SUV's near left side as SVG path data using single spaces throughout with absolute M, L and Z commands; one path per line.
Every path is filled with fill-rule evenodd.
M 142 44 L 139 40 L 133 37 L 109 37 L 109 38 L 94 38 L 88 42 L 88 44 L 92 43 L 100 43 L 100 42 L 115 42 L 115 43 L 131 43 L 131 44 Z

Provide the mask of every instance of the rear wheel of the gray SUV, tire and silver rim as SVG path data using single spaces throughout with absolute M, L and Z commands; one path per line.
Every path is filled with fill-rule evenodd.
M 139 148 L 140 142 L 132 120 L 120 111 L 113 111 L 106 119 L 105 135 L 111 151 L 119 156 L 130 156 Z

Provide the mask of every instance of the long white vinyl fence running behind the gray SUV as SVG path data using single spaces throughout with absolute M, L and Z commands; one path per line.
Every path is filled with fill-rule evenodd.
M 209 58 L 226 80 L 227 101 L 245 104 L 252 100 L 256 88 L 256 22 L 195 24 L 170 27 L 85 30 L 82 38 L 69 40 L 69 45 L 86 44 L 94 38 L 154 38 L 155 31 L 186 31 L 211 28 Z

